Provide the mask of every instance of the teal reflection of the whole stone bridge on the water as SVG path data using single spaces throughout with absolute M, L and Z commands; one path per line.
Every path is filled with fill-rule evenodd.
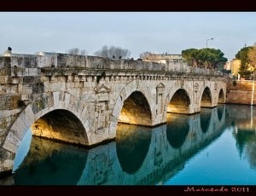
M 224 130 L 224 116 L 219 121 L 217 108 L 213 108 L 211 111 L 210 125 L 206 133 L 201 130 L 199 114 L 183 118 L 181 122 L 187 122 L 185 127 L 189 131 L 186 130 L 182 135 L 179 135 L 180 141 L 175 144 L 176 146 L 174 145 L 175 147 L 172 147 L 173 142 L 170 142 L 170 137 L 175 138 L 175 135 L 168 135 L 168 126 L 172 126 L 172 124 L 163 124 L 145 130 L 141 130 L 143 127 L 138 126 L 136 128 L 132 125 L 133 128 L 131 128 L 128 124 L 122 124 L 123 129 L 120 127 L 122 130 L 117 132 L 117 141 L 93 147 L 86 152 L 79 151 L 76 155 L 71 155 L 67 151 L 67 159 L 73 159 L 71 164 L 77 170 L 76 175 L 73 175 L 72 182 L 68 183 L 71 185 L 150 185 L 169 179 L 176 175 L 179 170 L 183 170 L 187 159 L 193 157 L 201 148 L 206 147 Z M 180 114 L 170 115 L 178 116 Z M 180 123 L 180 126 L 183 127 L 183 124 Z M 176 127 L 181 129 L 178 124 Z M 60 152 L 59 149 L 65 149 L 65 147 L 52 146 L 52 148 L 43 150 L 44 146 L 36 145 L 35 141 L 32 141 L 30 153 L 26 156 L 22 166 L 15 171 L 15 184 L 19 184 L 21 181 L 29 184 L 31 177 L 34 184 L 40 183 L 42 175 L 31 176 L 35 172 L 31 173 L 27 169 L 31 167 L 29 165 L 33 165 L 34 170 L 38 171 L 42 163 L 54 163 L 55 161 L 49 160 L 50 157 L 53 156 L 54 160 L 54 156 Z M 140 142 L 141 144 L 139 144 Z M 49 154 L 48 158 L 43 156 L 43 159 L 39 159 L 39 157 L 42 158 L 39 154 L 38 159 L 36 158 L 38 147 L 42 148 L 41 151 Z M 138 150 L 141 147 L 143 149 Z M 135 159 L 139 157 L 140 159 Z M 65 160 L 62 159 L 61 162 L 63 163 Z M 76 164 L 79 166 L 76 167 Z M 49 170 L 52 169 L 44 172 L 44 179 L 48 179 L 52 175 Z M 73 170 L 71 167 L 67 167 L 63 168 L 62 172 L 68 176 L 71 170 Z M 64 174 L 56 172 L 55 175 L 63 178 L 61 175 Z M 44 183 L 47 184 L 46 181 Z

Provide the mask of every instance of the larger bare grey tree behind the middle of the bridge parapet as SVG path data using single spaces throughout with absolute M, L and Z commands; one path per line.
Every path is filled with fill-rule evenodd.
M 115 46 L 102 46 L 102 49 L 98 50 L 95 52 L 94 55 L 97 56 L 102 56 L 102 57 L 108 57 L 109 59 L 111 58 L 123 58 L 127 59 L 130 57 L 131 52 L 128 49 L 122 49 L 120 47 L 115 47 Z

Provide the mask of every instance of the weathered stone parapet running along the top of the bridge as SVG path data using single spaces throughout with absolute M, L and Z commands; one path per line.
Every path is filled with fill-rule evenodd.
M 188 66 L 184 62 L 172 62 L 168 65 L 146 61 L 116 59 L 110 60 L 99 56 L 42 53 L 40 55 L 13 54 L 0 56 L 1 76 L 39 76 L 41 68 L 78 68 L 88 70 L 122 70 L 143 72 L 175 72 L 179 74 L 221 76 L 223 72 Z

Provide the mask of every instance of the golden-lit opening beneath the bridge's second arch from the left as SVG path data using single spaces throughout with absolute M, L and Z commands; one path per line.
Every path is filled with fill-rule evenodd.
M 134 91 L 124 101 L 124 105 L 119 114 L 119 123 L 139 124 L 150 126 L 152 115 L 146 97 L 140 91 Z

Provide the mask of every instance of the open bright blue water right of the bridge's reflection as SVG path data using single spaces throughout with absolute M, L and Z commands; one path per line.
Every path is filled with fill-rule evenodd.
M 241 133 L 241 135 L 247 135 L 247 133 Z M 253 137 L 253 142 L 256 142 L 255 133 Z M 239 153 L 236 142 L 234 131 L 225 129 L 216 141 L 189 159 L 184 169 L 168 179 L 165 184 L 255 185 L 255 166 L 251 166 L 246 150 Z M 253 151 L 256 153 L 255 147 Z

